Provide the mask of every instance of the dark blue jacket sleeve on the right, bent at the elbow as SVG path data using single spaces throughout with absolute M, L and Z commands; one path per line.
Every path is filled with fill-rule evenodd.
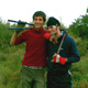
M 77 48 L 77 45 L 74 41 L 74 38 L 70 37 L 69 40 L 69 56 L 67 57 L 68 63 L 76 63 L 80 61 L 80 55 Z

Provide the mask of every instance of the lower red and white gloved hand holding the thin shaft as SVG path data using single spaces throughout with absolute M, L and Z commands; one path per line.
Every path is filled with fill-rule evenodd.
M 59 63 L 59 64 L 62 64 L 62 65 L 65 65 L 66 58 L 62 57 L 62 56 L 58 55 L 58 54 L 54 54 L 54 56 L 53 56 L 53 62 L 54 62 L 54 63 Z

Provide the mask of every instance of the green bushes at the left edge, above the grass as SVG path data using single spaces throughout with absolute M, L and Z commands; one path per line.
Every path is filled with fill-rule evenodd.
M 13 34 L 13 31 L 8 30 L 10 26 L 10 23 L 6 23 L 0 19 L 0 51 L 1 52 L 8 52 L 7 47 L 9 47 L 10 38 Z

